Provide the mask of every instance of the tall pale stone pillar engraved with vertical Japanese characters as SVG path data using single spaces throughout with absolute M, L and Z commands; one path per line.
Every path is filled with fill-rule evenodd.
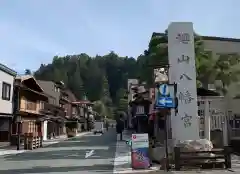
M 169 81 L 177 83 L 178 112 L 171 113 L 173 139 L 199 139 L 193 24 L 173 22 L 168 27 Z

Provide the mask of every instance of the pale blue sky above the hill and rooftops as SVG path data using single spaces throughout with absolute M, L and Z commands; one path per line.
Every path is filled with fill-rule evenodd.
M 113 50 L 137 57 L 152 32 L 191 21 L 201 35 L 240 38 L 239 0 L 0 0 L 0 62 L 36 70 L 54 55 Z

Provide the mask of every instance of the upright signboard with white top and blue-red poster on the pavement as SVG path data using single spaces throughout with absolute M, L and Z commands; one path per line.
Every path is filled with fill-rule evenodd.
M 133 169 L 150 167 L 148 134 L 132 134 L 131 157 Z

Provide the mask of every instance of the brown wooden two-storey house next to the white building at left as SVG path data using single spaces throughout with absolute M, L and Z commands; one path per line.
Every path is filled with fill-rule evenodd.
M 14 122 L 11 132 L 13 139 L 17 134 L 25 133 L 42 136 L 41 120 L 45 114 L 42 114 L 41 110 L 44 109 L 44 103 L 48 102 L 48 97 L 35 78 L 30 75 L 17 76 L 14 88 Z

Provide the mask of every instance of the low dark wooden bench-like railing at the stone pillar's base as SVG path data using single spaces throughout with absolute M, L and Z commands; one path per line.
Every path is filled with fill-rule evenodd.
M 210 154 L 214 154 L 211 156 Z M 175 169 L 180 171 L 185 167 L 202 169 L 231 168 L 231 149 L 212 149 L 211 151 L 181 151 L 180 147 L 174 148 Z

